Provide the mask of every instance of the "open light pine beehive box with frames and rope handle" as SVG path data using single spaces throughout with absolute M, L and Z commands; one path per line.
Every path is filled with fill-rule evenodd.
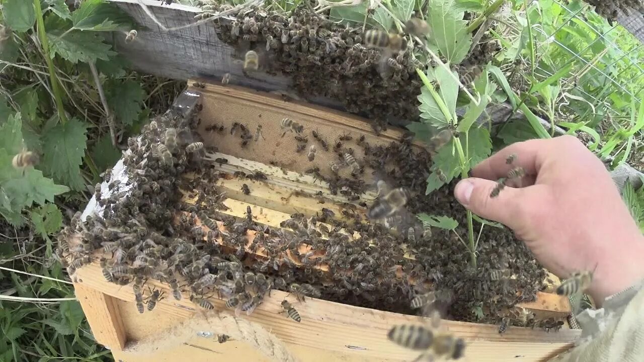
M 216 157 L 228 160 L 227 164 L 218 165 L 223 172 L 262 171 L 268 180 L 251 182 L 233 177 L 220 178 L 217 186 L 225 190 L 228 197 L 225 205 L 230 209 L 223 213 L 243 217 L 247 206 L 251 206 L 256 222 L 272 227 L 279 227 L 290 213 L 315 214 L 323 200 L 325 207 L 340 213 L 341 203 L 347 201 L 341 195 L 329 195 L 325 186 L 314 182 L 310 175 L 303 175 L 310 165 L 298 161 L 298 158 L 306 157 L 294 153 L 292 137 L 281 137 L 279 120 L 283 117 L 298 119 L 305 128 L 316 129 L 328 139 L 350 133 L 354 137 L 365 135 L 375 143 L 389 142 L 401 135 L 401 131 L 393 129 L 375 136 L 365 120 L 345 113 L 287 102 L 268 93 L 232 86 L 191 87 L 180 96 L 175 107 L 187 110 L 194 108 L 196 102 L 203 106 L 200 114 L 202 124 L 198 131 L 206 144 L 213 142 L 209 132 L 205 131 L 212 121 L 230 129 L 233 122 L 243 119 L 251 131 L 257 124 L 263 125 L 265 141 L 251 142 L 246 148 L 239 147 L 239 138 L 234 138 L 234 142 L 220 141 L 216 144 Z M 319 152 L 319 163 L 324 164 L 329 155 Z M 118 169 L 117 165 L 113 172 L 119 172 Z M 251 195 L 242 193 L 243 183 L 249 184 Z M 194 202 L 189 191 L 185 190 L 184 200 Z M 91 213 L 94 206 L 95 200 L 92 200 L 85 214 Z M 359 207 L 358 210 L 364 212 Z M 210 323 L 211 319 L 202 315 L 187 294 L 180 301 L 172 297 L 161 300 L 152 312 L 139 314 L 131 287 L 108 283 L 97 262 L 79 269 L 75 279 L 77 297 L 93 334 L 99 343 L 111 349 L 116 361 L 272 360 L 240 339 L 218 343 L 216 335 L 221 333 L 221 326 Z M 164 283 L 152 280 L 147 283 L 166 295 L 171 294 Z M 250 316 L 242 314 L 240 318 L 268 330 L 298 360 L 411 361 L 417 357 L 417 352 L 398 347 L 386 338 L 393 325 L 419 323 L 417 316 L 308 298 L 306 303 L 297 305 L 302 321 L 294 323 L 284 314 L 278 314 L 281 310 L 279 303 L 286 295 L 286 292 L 272 291 Z M 224 309 L 222 300 L 211 298 L 211 302 L 216 310 Z M 549 292 L 540 292 L 535 302 L 522 303 L 520 307 L 532 310 L 540 318 L 563 318 L 570 313 L 567 299 Z M 191 324 L 187 322 L 189 319 L 193 321 Z M 194 330 L 194 325 L 199 329 Z M 495 325 L 456 321 L 443 321 L 442 327 L 466 339 L 468 345 L 463 360 L 481 362 L 544 361 L 570 348 L 581 332 L 573 329 L 545 332 L 543 329 L 511 327 L 505 334 L 499 334 Z M 158 341 L 152 343 L 151 339 L 155 338 Z

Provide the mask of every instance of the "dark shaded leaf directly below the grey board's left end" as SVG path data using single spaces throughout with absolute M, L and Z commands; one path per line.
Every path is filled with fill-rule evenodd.
M 141 113 L 145 96 L 141 84 L 136 81 L 108 81 L 105 85 L 108 106 L 117 120 L 130 125 Z

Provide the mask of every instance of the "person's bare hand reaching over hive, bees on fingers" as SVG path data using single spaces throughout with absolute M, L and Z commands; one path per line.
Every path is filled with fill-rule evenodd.
M 512 164 L 506 163 L 515 154 Z M 491 198 L 497 179 L 521 166 Z M 507 146 L 472 169 L 454 194 L 473 213 L 507 225 L 549 271 L 567 278 L 594 270 L 587 293 L 607 296 L 644 278 L 644 236 L 611 175 L 577 138 L 527 140 Z

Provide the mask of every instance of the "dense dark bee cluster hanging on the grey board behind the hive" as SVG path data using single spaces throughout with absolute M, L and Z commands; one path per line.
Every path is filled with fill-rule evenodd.
M 202 3 L 207 12 L 218 8 L 211 1 Z M 214 26 L 220 39 L 238 50 L 245 73 L 283 73 L 292 78 L 299 95 L 339 100 L 346 110 L 372 120 L 376 131 L 386 128 L 390 119 L 417 119 L 422 81 L 416 68 L 427 66 L 412 56 L 420 45 L 408 47 L 404 34 L 363 33 L 361 27 L 334 23 L 305 3 L 290 16 L 253 7 L 232 21 L 217 19 Z M 406 33 L 418 28 L 408 25 Z M 484 41 L 487 45 L 477 46 L 463 66 L 456 67 L 461 76 L 486 64 L 495 52 L 498 44 Z

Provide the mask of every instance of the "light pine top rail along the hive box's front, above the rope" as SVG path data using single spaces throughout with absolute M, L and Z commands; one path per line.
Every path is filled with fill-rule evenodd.
M 107 283 L 100 272 L 99 265 L 86 265 L 77 271 L 77 276 L 86 287 L 128 302 L 128 305 L 121 309 L 129 307 L 130 312 L 136 311 L 131 287 Z M 148 283 L 165 291 L 167 296 L 171 296 L 164 283 L 153 280 Z M 279 303 L 284 298 L 295 301 L 293 296 L 287 297 L 286 292 L 272 291 L 271 295 L 265 298 L 264 303 L 245 318 L 260 323 L 287 345 L 323 348 L 331 352 L 379 360 L 410 360 L 416 356 L 414 352 L 397 347 L 388 341 L 386 332 L 393 325 L 401 323 L 425 323 L 417 316 L 307 298 L 305 303 L 295 304 L 302 316 L 302 322 L 296 323 L 285 319 L 283 314 L 278 314 L 281 310 Z M 211 301 L 217 310 L 225 309 L 222 300 Z M 146 311 L 146 313 L 158 316 L 155 320 L 167 318 L 166 316 L 188 318 L 198 309 L 199 307 L 186 298 L 177 301 L 169 297 L 158 302 L 152 312 Z M 157 323 L 159 326 L 167 325 L 167 323 Z M 128 322 L 128 325 L 132 324 Z M 455 335 L 466 338 L 468 354 L 473 357 L 470 360 L 481 362 L 504 361 L 517 355 L 526 356 L 524 361 L 540 361 L 553 350 L 569 347 L 580 336 L 580 330 L 547 333 L 544 330 L 511 327 L 508 332 L 498 334 L 498 327 L 495 325 L 442 321 L 442 326 Z M 146 328 L 154 329 L 156 333 L 162 332 L 154 326 L 147 325 Z M 139 336 L 143 337 L 142 334 Z M 348 348 L 347 345 L 352 347 Z M 303 361 L 308 360 L 307 356 L 298 355 L 298 357 Z

